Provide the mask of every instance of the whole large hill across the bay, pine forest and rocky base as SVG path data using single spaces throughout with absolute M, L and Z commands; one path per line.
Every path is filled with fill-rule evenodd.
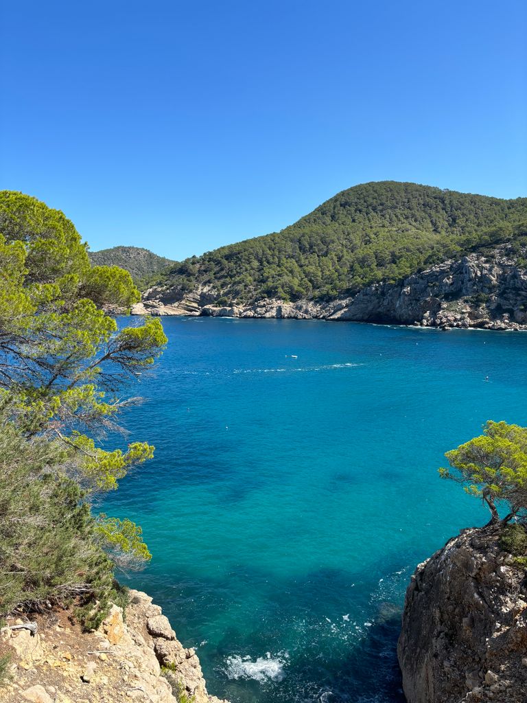
M 472 255 L 468 268 L 460 263 Z M 338 307 L 347 309 L 340 319 L 500 328 L 525 323 L 523 278 L 511 267 L 527 268 L 527 198 L 372 181 L 340 191 L 278 233 L 164 269 L 134 311 L 334 319 Z M 513 280 L 517 299 L 505 290 Z M 412 293 L 403 295 L 408 285 Z M 481 298 L 477 310 L 469 301 L 467 317 L 465 298 L 478 295 L 488 314 Z M 462 304 L 455 320 L 453 299 Z M 443 308 L 446 317 L 438 316 Z

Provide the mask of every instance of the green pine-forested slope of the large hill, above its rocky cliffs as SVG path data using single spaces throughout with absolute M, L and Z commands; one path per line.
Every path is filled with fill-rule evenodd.
M 527 198 L 365 183 L 281 232 L 186 259 L 157 283 L 183 291 L 212 285 L 223 302 L 332 299 L 487 245 L 525 239 L 526 224 Z

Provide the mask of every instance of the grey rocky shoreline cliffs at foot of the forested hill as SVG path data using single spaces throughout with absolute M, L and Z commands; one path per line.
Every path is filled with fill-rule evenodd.
M 214 288 L 191 292 L 150 288 L 132 314 L 203 315 L 380 322 L 439 328 L 526 329 L 527 270 L 507 245 L 415 273 L 399 283 L 375 283 L 331 302 L 263 299 L 218 305 Z

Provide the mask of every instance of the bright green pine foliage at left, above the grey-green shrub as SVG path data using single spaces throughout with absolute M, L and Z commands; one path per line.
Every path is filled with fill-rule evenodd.
M 131 465 L 152 456 L 152 447 L 105 452 L 85 432 L 115 429 L 123 401 L 108 392 L 143 373 L 162 352 L 162 324 L 152 319 L 118 328 L 105 309 L 128 307 L 138 291 L 122 269 L 91 268 L 62 213 L 3 191 L 0 224 L 0 389 L 16 400 L 12 419 L 28 432 L 59 437 L 84 479 L 98 489 L 115 488 Z M 34 253 L 48 252 L 50 243 L 60 245 L 55 258 Z

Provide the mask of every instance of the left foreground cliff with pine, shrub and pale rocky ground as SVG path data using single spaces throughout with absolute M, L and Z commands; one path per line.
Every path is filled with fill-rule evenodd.
M 141 527 L 94 508 L 154 451 L 103 444 L 167 342 L 160 320 L 110 314 L 139 297 L 62 212 L 0 193 L 2 700 L 221 703 L 161 608 L 115 579 L 150 560 Z

